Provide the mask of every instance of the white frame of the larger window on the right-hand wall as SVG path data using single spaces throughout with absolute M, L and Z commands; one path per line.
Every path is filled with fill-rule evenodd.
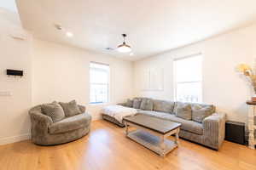
M 197 56 L 201 56 L 201 80 L 199 81 L 185 81 L 185 82 L 177 82 L 177 65 L 176 65 L 176 61 L 177 60 L 182 60 L 182 59 L 189 59 L 189 58 L 193 58 L 193 57 L 197 57 Z M 197 53 L 197 54 L 190 54 L 190 55 L 186 55 L 183 57 L 177 57 L 174 58 L 172 60 L 172 66 L 173 66 L 173 98 L 174 101 L 178 101 L 177 100 L 177 84 L 185 84 L 185 83 L 193 83 L 193 82 L 201 82 L 201 100 L 199 100 L 197 103 L 203 103 L 203 71 L 202 71 L 202 67 L 203 67 L 203 54 L 202 53 Z M 185 101 L 188 102 L 188 101 Z

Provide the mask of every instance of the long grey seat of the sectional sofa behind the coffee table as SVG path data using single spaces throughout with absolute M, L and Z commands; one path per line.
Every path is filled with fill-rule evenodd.
M 170 120 L 172 122 L 179 122 L 182 124 L 181 129 L 184 131 L 188 131 L 190 133 L 195 133 L 201 135 L 203 133 L 203 126 L 202 123 L 188 121 L 183 118 L 179 118 L 175 115 L 170 113 L 164 113 L 159 111 L 138 111 L 138 114 L 144 114 L 148 116 L 155 116 L 161 119 Z

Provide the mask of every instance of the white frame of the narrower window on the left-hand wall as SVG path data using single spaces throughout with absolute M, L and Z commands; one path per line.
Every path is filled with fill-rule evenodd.
M 93 83 L 93 82 L 90 82 L 90 71 L 91 69 L 93 70 L 102 70 L 102 71 L 106 71 L 105 69 L 100 69 L 100 68 L 93 68 L 90 66 L 90 64 L 96 64 L 96 65 L 105 65 L 105 66 L 108 66 L 108 83 L 107 83 L 107 86 L 108 86 L 108 91 L 107 91 L 107 101 L 106 102 L 91 102 L 90 101 L 90 89 L 91 89 L 91 84 L 102 84 L 102 85 L 105 85 L 105 83 Z M 90 61 L 90 64 L 89 64 L 89 104 L 90 105 L 103 105 L 103 104 L 108 104 L 109 101 L 110 101 L 110 65 L 108 64 L 105 64 L 105 63 L 100 63 L 100 62 L 96 62 L 96 61 Z

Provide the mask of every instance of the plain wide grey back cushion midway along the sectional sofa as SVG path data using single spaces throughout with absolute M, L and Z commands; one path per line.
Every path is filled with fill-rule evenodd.
M 153 100 L 153 110 L 154 111 L 161 111 L 166 113 L 173 113 L 174 102 L 154 99 Z

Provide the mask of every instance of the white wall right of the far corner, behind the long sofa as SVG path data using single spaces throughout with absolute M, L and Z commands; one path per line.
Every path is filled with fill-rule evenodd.
M 239 63 L 253 65 L 256 57 L 256 26 L 231 31 L 207 41 L 178 48 L 164 54 L 137 61 L 134 65 L 134 85 L 137 96 L 157 99 L 173 99 L 174 58 L 202 53 L 203 58 L 203 102 L 216 105 L 225 111 L 228 119 L 247 122 L 246 100 L 251 91 L 247 82 L 235 71 Z M 142 91 L 142 72 L 150 67 L 164 69 L 163 91 Z

